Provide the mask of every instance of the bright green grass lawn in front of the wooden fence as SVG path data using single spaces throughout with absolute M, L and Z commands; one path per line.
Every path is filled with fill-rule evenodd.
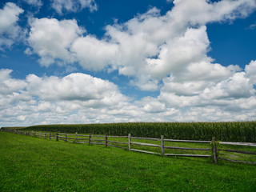
M 0 132 L 0 191 L 255 191 L 256 166 Z

